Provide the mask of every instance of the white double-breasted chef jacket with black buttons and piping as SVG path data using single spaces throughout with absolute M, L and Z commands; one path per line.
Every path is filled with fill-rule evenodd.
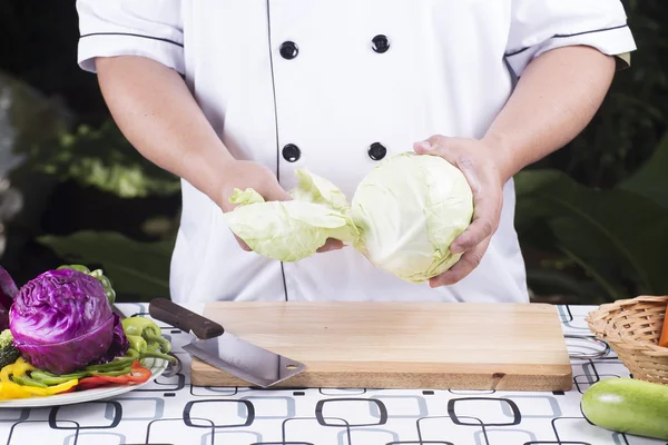
M 636 49 L 619 0 L 78 0 L 77 8 L 82 69 L 95 72 L 104 56 L 164 63 L 184 76 L 236 158 L 271 168 L 285 189 L 307 168 L 348 199 L 381 159 L 414 141 L 483 136 L 513 76 L 542 52 Z M 503 194 L 479 267 L 432 289 L 375 268 L 352 247 L 284 264 L 246 253 L 222 210 L 183 181 L 171 298 L 528 301 L 512 180 Z

